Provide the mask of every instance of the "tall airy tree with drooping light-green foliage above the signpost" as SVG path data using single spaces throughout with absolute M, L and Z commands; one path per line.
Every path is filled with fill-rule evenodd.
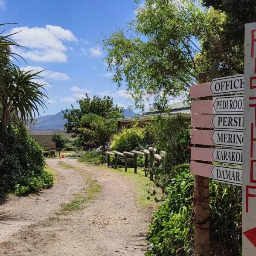
M 207 71 L 210 79 L 212 62 L 219 63 L 221 75 L 239 71 L 232 57 L 223 59 L 226 49 L 217 59 L 206 51 L 225 22 L 223 12 L 202 8 L 198 1 L 145 0 L 128 24 L 132 36 L 119 29 L 102 41 L 112 81 L 119 87 L 126 82 L 137 107 L 144 108 L 148 100 L 163 110 L 170 99 L 188 95 L 198 72 Z

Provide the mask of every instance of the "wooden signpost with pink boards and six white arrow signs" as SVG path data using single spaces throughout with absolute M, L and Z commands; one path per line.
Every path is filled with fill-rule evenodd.
M 201 180 L 206 177 L 218 182 L 242 186 L 241 167 L 212 165 L 212 163 L 242 164 L 244 97 L 241 93 L 243 91 L 244 75 L 212 79 L 211 83 L 197 84 L 190 88 L 193 127 L 191 143 L 194 144 L 191 148 L 191 172 L 196 175 L 197 201 L 201 200 L 199 198 L 201 193 L 206 195 L 204 191 L 207 189 L 207 183 L 204 188 L 198 185 L 199 177 Z M 209 201 L 209 198 L 207 200 Z M 202 201 L 201 209 L 195 209 L 196 218 L 200 215 L 207 216 L 209 203 L 208 205 L 206 203 Z M 201 212 L 198 212 L 200 210 Z M 199 235 L 200 228 L 204 237 Z M 195 224 L 195 255 L 210 255 L 207 229 L 208 226 L 203 227 L 201 224 L 200 227 L 199 224 Z

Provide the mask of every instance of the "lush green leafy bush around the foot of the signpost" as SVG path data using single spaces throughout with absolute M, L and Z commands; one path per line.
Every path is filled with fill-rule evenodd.
M 167 197 L 158 211 L 148 232 L 151 256 L 190 256 L 193 245 L 192 212 L 194 207 L 195 180 L 189 169 L 176 170 L 167 187 Z M 220 242 L 220 230 L 233 236 L 241 234 L 241 188 L 210 181 L 210 234 L 211 244 Z M 227 238 L 228 239 L 228 238 Z M 224 244 L 230 250 L 230 244 Z M 241 239 L 232 255 L 239 256 Z M 214 250 L 214 248 L 212 248 Z M 221 254 L 224 255 L 224 254 Z

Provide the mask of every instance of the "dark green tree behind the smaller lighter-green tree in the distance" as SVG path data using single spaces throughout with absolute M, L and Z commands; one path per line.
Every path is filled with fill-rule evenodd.
M 90 122 L 86 122 L 86 118 L 81 119 L 83 116 L 88 114 L 95 114 L 96 116 L 101 116 L 106 118 L 110 115 L 111 112 L 116 111 L 122 114 L 122 108 L 119 108 L 117 105 L 113 104 L 113 99 L 109 96 L 104 96 L 103 99 L 93 96 L 91 99 L 87 94 L 84 99 L 79 99 L 77 101 L 79 103 L 80 109 L 74 109 L 72 106 L 71 111 L 66 111 L 64 113 L 64 118 L 67 119 L 67 123 L 65 123 L 65 128 L 67 133 L 72 133 L 76 137 L 79 135 L 80 139 L 84 142 L 87 142 L 91 139 L 87 132 L 84 132 L 79 128 L 87 128 L 90 129 Z

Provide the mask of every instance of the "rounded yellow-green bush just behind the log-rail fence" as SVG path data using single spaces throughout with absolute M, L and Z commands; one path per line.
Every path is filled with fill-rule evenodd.
M 123 127 L 119 134 L 113 135 L 111 149 L 119 152 L 139 149 L 145 145 L 147 128 L 134 125 L 132 128 Z

